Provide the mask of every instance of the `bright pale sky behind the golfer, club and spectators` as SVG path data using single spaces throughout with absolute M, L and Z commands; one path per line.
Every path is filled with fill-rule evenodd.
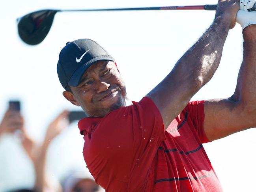
M 21 41 L 17 17 L 46 8 L 182 6 L 216 4 L 217 0 L 11 0 L 1 1 L 0 119 L 9 99 L 22 102 L 26 129 L 43 140 L 51 120 L 64 109 L 78 109 L 62 96 L 58 54 L 67 41 L 90 38 L 116 59 L 133 101 L 139 101 L 172 69 L 213 21 L 215 11 L 123 11 L 57 13 L 45 40 L 37 46 Z M 220 67 L 192 100 L 230 97 L 242 60 L 242 34 L 237 24 L 228 34 Z M 174 90 L 175 94 L 175 90 Z M 225 118 L 225 117 L 223 117 Z M 256 130 L 250 129 L 204 144 L 225 192 L 252 192 L 255 185 Z M 50 145 L 48 169 L 62 179 L 73 168 L 85 168 L 83 138 L 76 123 Z M 15 136 L 0 138 L 0 192 L 32 187 L 34 170 Z

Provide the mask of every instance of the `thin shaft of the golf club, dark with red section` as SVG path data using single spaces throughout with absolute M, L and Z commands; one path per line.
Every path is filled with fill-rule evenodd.
M 131 7 L 110 9 L 62 9 L 58 11 L 139 11 L 139 10 L 215 10 L 217 5 L 168 6 L 168 7 Z

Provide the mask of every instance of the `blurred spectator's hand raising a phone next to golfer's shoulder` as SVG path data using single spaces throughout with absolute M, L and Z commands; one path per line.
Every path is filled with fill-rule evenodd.
M 45 141 L 50 142 L 69 125 L 68 114 L 68 111 L 64 111 L 50 123 L 46 132 Z

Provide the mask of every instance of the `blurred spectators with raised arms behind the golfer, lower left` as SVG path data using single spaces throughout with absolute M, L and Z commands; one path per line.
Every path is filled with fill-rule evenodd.
M 31 159 L 35 170 L 35 185 L 30 189 L 17 188 L 7 192 L 103 192 L 84 166 L 75 170 L 60 182 L 52 177 L 46 169 L 47 150 L 54 138 L 69 126 L 69 112 L 63 111 L 48 126 L 43 142 L 36 142 L 24 129 L 24 118 L 21 112 L 9 107 L 0 121 L 0 139 L 4 134 L 15 134 Z M 81 157 L 82 158 L 82 157 Z

